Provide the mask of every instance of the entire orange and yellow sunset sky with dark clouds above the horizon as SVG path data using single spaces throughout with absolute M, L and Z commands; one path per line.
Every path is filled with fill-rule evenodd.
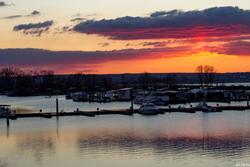
M 248 0 L 0 0 L 0 68 L 250 71 Z

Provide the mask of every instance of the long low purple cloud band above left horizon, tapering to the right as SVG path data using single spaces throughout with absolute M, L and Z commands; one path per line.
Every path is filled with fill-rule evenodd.
M 73 66 L 88 66 L 95 69 L 97 65 L 112 61 L 156 59 L 173 57 L 187 52 L 188 48 L 152 48 L 125 49 L 112 51 L 49 51 L 41 49 L 0 49 L 0 66 L 17 66 L 25 68 L 48 68 L 67 71 Z M 181 55 L 181 54 L 180 54 Z M 58 72 L 58 71 L 56 71 Z

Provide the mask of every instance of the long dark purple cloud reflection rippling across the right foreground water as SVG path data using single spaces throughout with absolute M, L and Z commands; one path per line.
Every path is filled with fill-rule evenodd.
M 86 135 L 86 132 L 83 132 Z M 99 132 L 100 133 L 100 132 Z M 105 134 L 105 132 L 103 132 Z M 166 156 L 182 153 L 201 153 L 214 157 L 240 156 L 250 149 L 250 134 L 242 136 L 189 136 L 171 138 L 167 136 L 137 136 L 135 134 L 113 134 L 100 136 L 78 136 L 79 151 L 82 154 L 110 153 L 147 154 L 151 150 L 155 156 Z M 107 152 L 108 151 L 108 152 Z

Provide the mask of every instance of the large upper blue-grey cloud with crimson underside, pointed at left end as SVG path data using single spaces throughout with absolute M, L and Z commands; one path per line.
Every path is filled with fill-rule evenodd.
M 237 36 L 250 34 L 250 11 L 238 7 L 161 11 L 148 17 L 83 21 L 73 30 L 119 40 Z

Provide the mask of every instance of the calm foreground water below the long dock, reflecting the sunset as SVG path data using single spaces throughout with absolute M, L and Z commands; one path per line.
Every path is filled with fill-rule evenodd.
M 240 165 L 250 165 L 250 111 L 0 120 L 0 167 Z

